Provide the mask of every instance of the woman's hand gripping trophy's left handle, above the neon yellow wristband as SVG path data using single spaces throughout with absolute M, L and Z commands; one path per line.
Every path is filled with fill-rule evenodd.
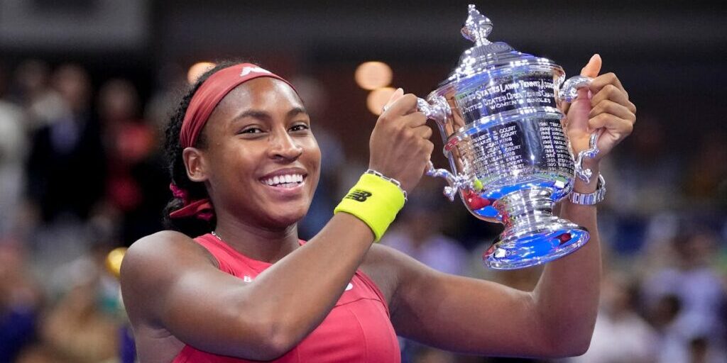
M 401 182 L 411 192 L 422 179 L 434 144 L 427 116 L 417 111 L 417 97 L 397 89 L 371 132 L 369 168 Z

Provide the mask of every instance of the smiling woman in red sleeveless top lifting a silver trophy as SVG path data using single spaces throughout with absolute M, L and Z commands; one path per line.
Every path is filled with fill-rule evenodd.
M 594 56 L 582 73 L 600 68 Z M 602 158 L 630 134 L 635 107 L 611 73 L 590 92 L 566 105 L 566 128 L 574 152 L 603 128 Z M 364 174 L 304 243 L 296 223 L 321 155 L 300 98 L 255 65 L 203 76 L 167 131 L 177 196 L 170 216 L 186 234 L 142 238 L 121 266 L 140 362 L 398 362 L 394 332 L 474 354 L 582 354 L 601 274 L 593 205 L 563 202 L 561 215 L 593 231 L 591 240 L 548 264 L 532 292 L 441 274 L 372 245 L 430 159 L 425 121 L 415 97 L 398 90 L 369 143 L 369 167 L 385 178 Z M 590 167 L 598 172 L 598 160 Z

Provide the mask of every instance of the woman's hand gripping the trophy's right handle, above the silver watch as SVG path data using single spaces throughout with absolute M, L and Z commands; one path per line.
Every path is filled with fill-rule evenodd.
M 592 77 L 593 82 L 579 90 L 578 98 L 571 105 L 561 105 L 566 113 L 563 127 L 571 141 L 574 155 L 589 149 L 590 134 L 598 129 L 603 130 L 598 137 L 601 152 L 593 159 L 585 159 L 587 167 L 597 166 L 598 160 L 631 134 L 636 122 L 636 107 L 629 101 L 629 94 L 619 78 L 614 73 L 598 76 L 600 71 L 601 56 L 595 54 L 581 70 L 581 76 Z

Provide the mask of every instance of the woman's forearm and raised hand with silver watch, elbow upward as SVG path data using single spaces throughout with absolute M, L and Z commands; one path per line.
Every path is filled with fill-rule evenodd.
M 628 136 L 636 121 L 636 107 L 630 102 L 619 78 L 614 73 L 598 76 L 601 57 L 594 55 L 581 71 L 582 76 L 594 77 L 587 97 L 585 89 L 569 105 L 563 121 L 575 155 L 589 147 L 590 134 L 601 129 L 598 148 L 593 159 L 586 158 L 585 167 L 593 176 L 589 183 L 576 178 L 574 191 L 595 192 L 598 184 L 599 162 Z M 560 216 L 585 227 L 590 240 L 577 252 L 545 266 L 545 271 L 533 291 L 539 316 L 550 327 L 549 335 L 567 350 L 585 353 L 593 334 L 601 286 L 601 239 L 596 224 L 596 206 L 571 203 L 567 198 L 560 205 Z

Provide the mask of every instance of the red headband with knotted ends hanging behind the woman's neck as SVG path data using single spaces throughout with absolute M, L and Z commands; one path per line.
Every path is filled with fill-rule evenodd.
M 184 121 L 182 121 L 182 130 L 180 131 L 180 144 L 182 145 L 182 149 L 192 147 L 196 144 L 199 134 L 201 134 L 204 125 L 207 123 L 209 115 L 212 115 L 212 111 L 214 111 L 214 107 L 217 107 L 217 104 L 230 91 L 246 81 L 260 77 L 279 79 L 287 83 L 295 91 L 293 85 L 281 76 L 252 63 L 242 63 L 218 70 L 199 86 L 199 89 L 197 89 L 194 96 L 192 96 L 192 100 L 189 102 L 187 113 L 185 113 Z M 212 219 L 214 210 L 208 198 L 190 200 L 188 198 L 188 192 L 184 189 L 174 184 L 169 184 L 169 188 L 172 189 L 174 197 L 178 197 L 184 202 L 182 208 L 169 213 L 169 217 L 185 218 L 196 216 L 198 219 L 204 219 L 206 221 Z

